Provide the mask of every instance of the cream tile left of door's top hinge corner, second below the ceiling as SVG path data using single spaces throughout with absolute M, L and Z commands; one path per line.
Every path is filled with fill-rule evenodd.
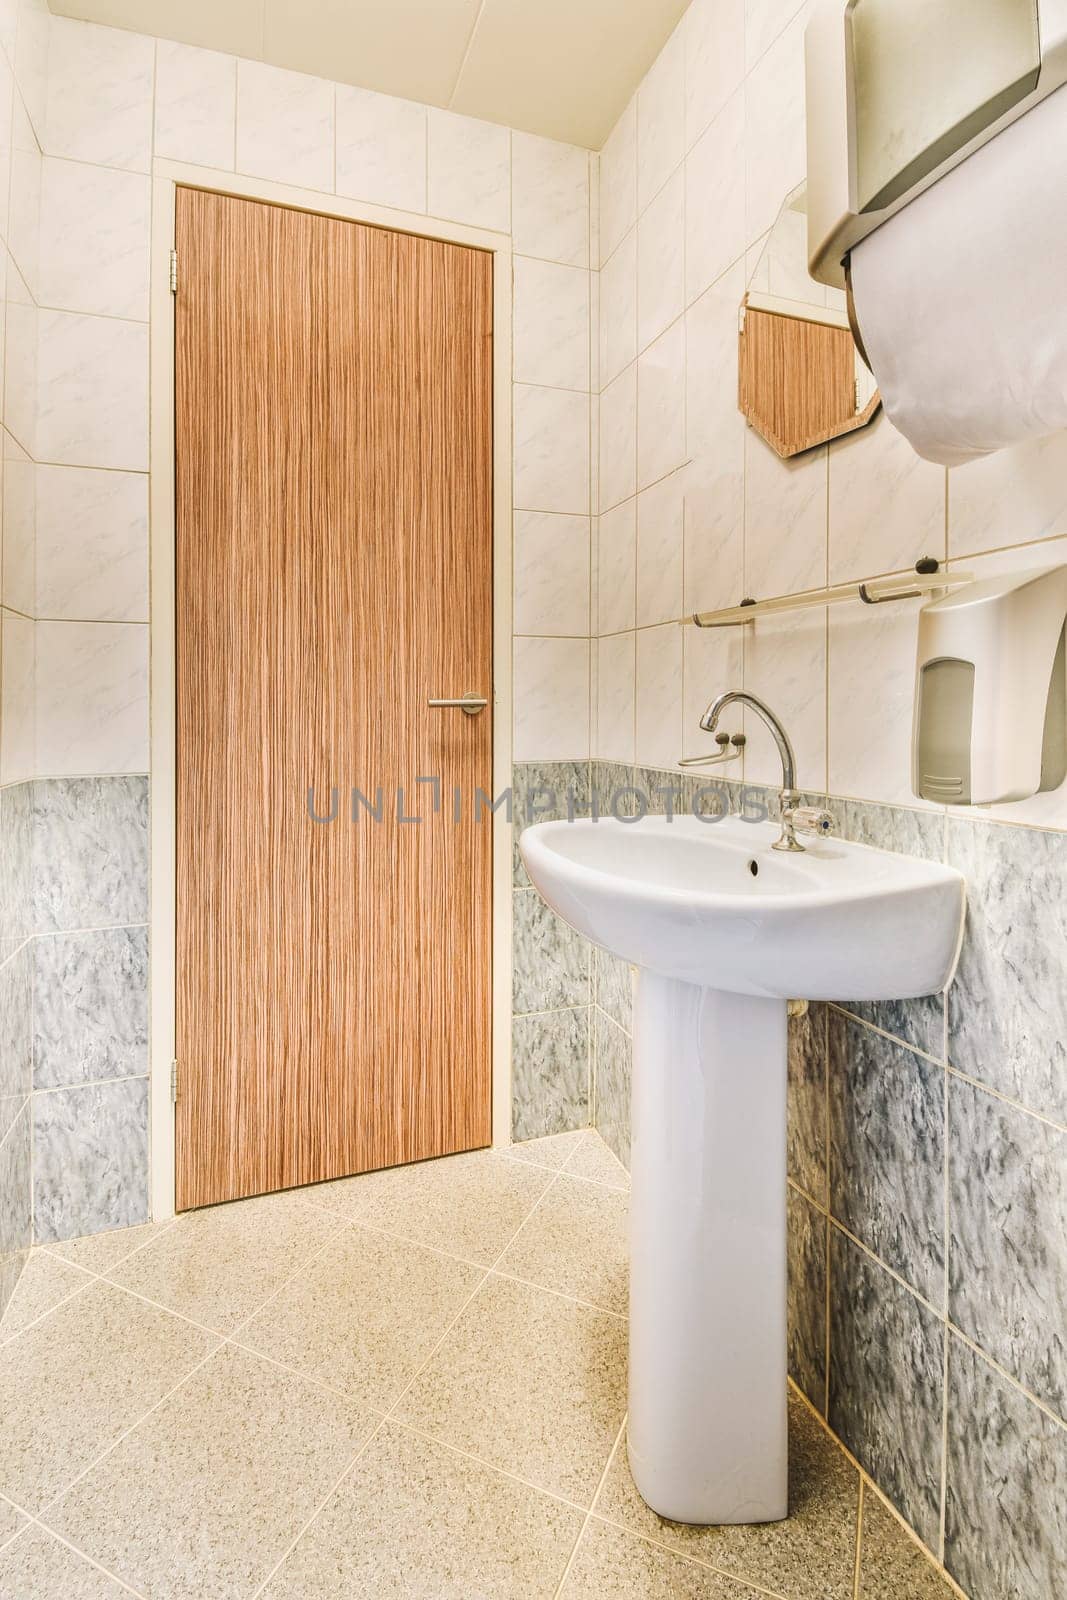
M 150 178 L 46 157 L 38 302 L 147 322 L 150 227 Z

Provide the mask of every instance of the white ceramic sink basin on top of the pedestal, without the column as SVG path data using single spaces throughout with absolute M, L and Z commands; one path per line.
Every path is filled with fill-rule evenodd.
M 520 850 L 544 899 L 653 973 L 779 1000 L 905 1000 L 949 982 L 950 867 L 833 838 L 773 850 L 773 822 L 542 822 Z

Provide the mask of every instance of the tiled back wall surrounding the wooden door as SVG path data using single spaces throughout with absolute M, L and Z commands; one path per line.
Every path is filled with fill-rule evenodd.
M 45 19 L 38 125 L 37 1237 L 147 1206 L 147 349 L 155 158 L 509 235 L 515 675 L 589 754 L 597 158 L 261 62 Z M 432 224 L 427 224 L 432 226 Z M 555 582 L 566 573 L 566 605 Z M 32 685 L 32 672 L 29 675 Z M 107 774 L 104 778 L 102 774 Z M 91 778 L 91 781 L 90 781 Z M 528 894 L 526 904 L 534 896 Z M 557 1000 L 534 992 L 523 1003 Z M 577 1010 L 574 1019 L 577 1027 Z M 582 1019 L 584 1021 L 584 1019 Z M 569 1046 L 576 1038 L 568 1040 Z M 574 1114 L 577 1096 L 560 1115 Z

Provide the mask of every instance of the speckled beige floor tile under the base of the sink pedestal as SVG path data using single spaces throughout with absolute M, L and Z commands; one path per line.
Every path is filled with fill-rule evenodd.
M 790 1398 L 789 1517 L 739 1528 L 693 1528 L 649 1510 L 619 1446 L 595 1512 L 785 1600 L 851 1600 L 859 1474 L 806 1406 Z

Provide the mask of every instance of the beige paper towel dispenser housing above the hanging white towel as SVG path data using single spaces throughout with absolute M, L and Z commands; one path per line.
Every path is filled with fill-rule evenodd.
M 845 259 L 1067 83 L 1067 0 L 816 0 L 805 35 L 808 258 Z

